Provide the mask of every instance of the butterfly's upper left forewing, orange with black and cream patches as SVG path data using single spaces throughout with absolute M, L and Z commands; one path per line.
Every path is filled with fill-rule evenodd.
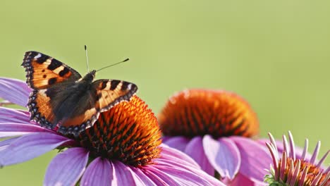
M 76 81 L 81 78 L 73 68 L 37 51 L 27 51 L 22 66 L 27 73 L 27 85 L 32 89 L 46 89 L 56 83 Z

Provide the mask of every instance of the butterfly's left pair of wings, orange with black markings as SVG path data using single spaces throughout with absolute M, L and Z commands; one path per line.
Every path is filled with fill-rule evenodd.
M 81 75 L 61 61 L 37 51 L 27 51 L 22 66 L 27 73 L 27 85 L 33 89 L 27 103 L 31 120 L 45 128 L 54 128 L 56 117 L 52 112 L 51 97 L 47 95 L 47 90 L 55 87 L 57 92 L 61 92 L 79 80 Z

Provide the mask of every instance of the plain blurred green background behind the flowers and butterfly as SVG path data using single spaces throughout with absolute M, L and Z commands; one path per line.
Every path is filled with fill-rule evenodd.
M 25 80 L 28 50 L 98 78 L 135 82 L 158 113 L 173 92 L 227 89 L 250 102 L 261 136 L 288 130 L 330 146 L 330 1 L 9 1 L 0 6 L 0 75 Z M 56 151 L 0 170 L 1 185 L 42 185 Z M 329 160 L 327 161 L 329 162 Z M 329 164 L 329 163 L 328 163 Z

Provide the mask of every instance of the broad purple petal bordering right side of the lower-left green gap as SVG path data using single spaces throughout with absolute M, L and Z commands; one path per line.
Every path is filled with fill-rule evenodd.
M 86 149 L 74 147 L 55 156 L 47 168 L 44 185 L 75 185 L 85 171 L 88 155 Z

